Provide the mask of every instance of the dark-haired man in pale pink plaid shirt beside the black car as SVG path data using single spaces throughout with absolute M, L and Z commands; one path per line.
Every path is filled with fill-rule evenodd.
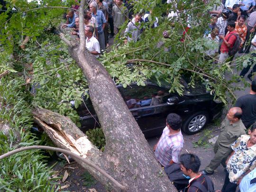
M 184 143 L 181 126 L 181 117 L 170 113 L 166 118 L 163 134 L 154 146 L 155 158 L 164 167 L 179 162 L 179 155 Z

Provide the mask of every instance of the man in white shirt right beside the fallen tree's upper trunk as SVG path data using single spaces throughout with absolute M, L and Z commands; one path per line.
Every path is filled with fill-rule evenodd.
M 101 48 L 99 41 L 93 37 L 94 28 L 92 26 L 85 27 L 86 48 L 91 54 L 95 55 L 96 58 L 101 54 Z

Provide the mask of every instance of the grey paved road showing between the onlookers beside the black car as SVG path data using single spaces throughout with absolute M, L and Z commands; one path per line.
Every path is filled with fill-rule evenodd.
M 234 73 L 237 73 L 237 72 L 234 71 Z M 229 77 L 230 77 L 230 74 L 227 74 L 226 78 L 229 78 Z M 248 79 L 245 79 L 245 80 L 247 82 L 249 82 Z M 234 83 L 233 86 L 244 87 L 242 82 Z M 235 91 L 235 94 L 236 94 L 237 97 L 240 97 L 240 96 L 242 96 L 244 94 L 247 94 L 249 91 L 250 91 L 250 88 L 247 87 L 244 90 Z M 224 112 L 223 112 L 224 114 L 222 116 L 222 119 L 225 117 L 226 111 L 227 110 L 224 110 Z M 212 135 L 213 136 L 219 135 L 219 129 L 216 128 L 213 125 L 208 125 L 205 129 L 212 130 Z M 196 154 L 196 155 L 198 155 L 200 157 L 200 159 L 201 159 L 200 170 L 204 169 L 210 163 L 210 160 L 214 156 L 212 147 L 207 148 L 207 149 L 204 149 L 202 147 L 197 147 L 197 148 L 193 147 L 192 142 L 198 141 L 198 139 L 200 138 L 202 133 L 203 132 L 200 132 L 200 133 L 192 135 L 192 136 L 188 136 L 188 135 L 185 135 L 183 133 L 184 147 L 183 147 L 183 150 L 182 150 L 182 153 L 193 153 L 193 154 Z M 153 146 L 157 143 L 158 139 L 159 139 L 159 137 L 154 137 L 154 138 L 148 139 L 149 145 L 153 148 Z M 214 183 L 215 190 L 217 190 L 217 189 L 220 190 L 222 188 L 222 185 L 224 183 L 224 178 L 225 178 L 224 168 L 222 167 L 222 165 L 220 165 L 216 169 L 215 173 L 213 175 L 211 175 L 210 178 L 212 179 L 212 181 Z

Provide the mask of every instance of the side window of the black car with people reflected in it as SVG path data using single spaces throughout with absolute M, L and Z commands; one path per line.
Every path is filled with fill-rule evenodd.
M 159 105 L 165 103 L 169 98 L 169 93 L 166 90 L 154 86 L 122 88 L 122 93 L 129 109 Z

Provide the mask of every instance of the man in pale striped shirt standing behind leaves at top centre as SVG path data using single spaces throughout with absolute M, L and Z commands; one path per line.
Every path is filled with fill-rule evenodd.
M 140 19 L 141 15 L 137 13 L 135 17 L 128 23 L 126 29 L 125 29 L 125 44 L 127 44 L 128 41 L 137 41 L 139 35 L 140 35 Z

